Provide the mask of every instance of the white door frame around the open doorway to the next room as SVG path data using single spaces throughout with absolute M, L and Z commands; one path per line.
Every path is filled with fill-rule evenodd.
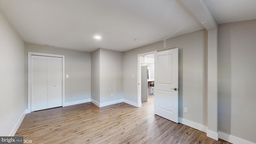
M 156 55 L 157 50 L 152 52 L 146 52 L 142 54 L 137 54 L 137 107 L 141 107 L 141 67 L 140 67 L 140 56 L 145 56 L 148 54 L 155 54 Z M 156 64 L 155 64 L 156 66 Z

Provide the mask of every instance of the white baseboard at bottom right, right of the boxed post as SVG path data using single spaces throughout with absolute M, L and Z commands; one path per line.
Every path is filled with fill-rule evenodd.
M 249 142 L 247 140 L 226 134 L 224 132 L 219 131 L 218 134 L 220 139 L 226 140 L 227 142 L 231 142 L 232 144 L 255 144 L 253 142 Z

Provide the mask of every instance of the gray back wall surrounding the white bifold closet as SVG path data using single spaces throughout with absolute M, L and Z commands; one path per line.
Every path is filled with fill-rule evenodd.
M 77 50 L 53 48 L 25 43 L 25 78 L 27 98 L 28 52 L 58 54 L 65 56 L 65 102 L 74 102 L 91 98 L 91 54 Z M 26 100 L 27 101 L 27 100 Z M 27 102 L 26 102 L 27 103 Z

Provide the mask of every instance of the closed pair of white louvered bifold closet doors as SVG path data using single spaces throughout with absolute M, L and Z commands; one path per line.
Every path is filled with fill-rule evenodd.
M 62 58 L 31 56 L 31 111 L 62 106 Z

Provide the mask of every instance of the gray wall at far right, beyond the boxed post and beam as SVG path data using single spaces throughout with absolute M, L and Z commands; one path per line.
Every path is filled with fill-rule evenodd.
M 219 131 L 256 143 L 256 20 L 218 30 Z

